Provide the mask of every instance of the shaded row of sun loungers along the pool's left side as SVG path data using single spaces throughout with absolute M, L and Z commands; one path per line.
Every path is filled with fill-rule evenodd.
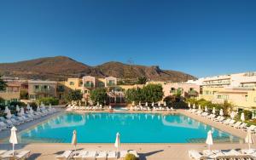
M 28 111 L 27 113 L 25 113 L 22 116 L 12 115 L 12 117 L 10 117 L 10 118 L 0 117 L 0 130 L 9 129 L 13 126 L 18 126 L 22 123 L 31 122 L 40 117 L 44 117 L 49 114 L 52 114 L 55 111 L 56 110 L 54 108 L 51 108 L 51 109 L 44 109 L 41 111 L 34 111 L 33 113 L 30 113 L 30 111 Z

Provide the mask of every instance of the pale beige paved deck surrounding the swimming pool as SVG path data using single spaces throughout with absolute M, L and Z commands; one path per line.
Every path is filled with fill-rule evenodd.
M 83 111 L 85 112 L 85 111 Z M 87 111 L 88 112 L 88 111 Z M 91 112 L 91 111 L 90 111 Z M 96 112 L 96 111 L 95 111 Z M 99 111 L 98 111 L 99 112 Z M 102 111 L 100 111 L 102 112 Z M 148 112 L 148 111 L 127 111 L 127 112 Z M 168 114 L 171 112 L 167 111 L 150 111 L 150 113 L 163 113 Z M 238 137 L 244 138 L 246 136 L 246 132 L 242 131 L 241 129 L 234 129 L 230 126 L 224 125 L 222 123 L 213 122 L 212 120 L 209 120 L 205 117 L 201 117 L 198 115 L 195 115 L 193 113 L 190 113 L 189 111 L 185 110 L 177 110 L 172 111 L 176 113 L 181 113 L 183 115 L 186 115 L 188 117 L 192 117 L 198 121 L 201 121 L 202 123 L 207 123 L 208 125 L 211 125 L 212 127 L 216 129 L 223 130 L 225 132 L 229 132 L 230 134 L 234 134 Z M 58 114 L 58 113 L 56 113 Z M 24 130 L 27 128 L 32 127 L 33 125 L 37 123 L 42 123 L 44 120 L 55 116 L 49 115 L 48 117 L 43 117 L 41 119 L 38 119 L 37 121 L 34 121 L 32 123 L 27 123 L 24 126 L 20 126 L 20 129 Z M 18 128 L 19 129 L 19 128 Z M 19 129 L 19 130 L 20 130 Z M 9 131 L 1 131 L 0 139 L 3 137 L 3 133 L 5 137 L 9 136 Z M 172 135 L 168 135 L 172 136 Z M 255 139 L 255 135 L 253 135 L 253 138 Z M 256 147 L 256 145 L 253 145 L 252 147 Z M 88 150 L 88 151 L 114 151 L 115 148 L 113 147 L 113 144 L 78 144 L 77 146 L 78 150 Z M 247 144 L 242 143 L 218 143 L 214 144 L 212 146 L 212 149 L 241 149 L 241 148 L 247 148 Z M 11 149 L 10 144 L 0 144 L 0 149 Z M 60 154 L 62 151 L 71 150 L 73 149 L 70 144 L 56 144 L 56 143 L 32 143 L 27 145 L 17 145 L 17 149 L 19 150 L 30 150 L 32 151 L 32 155 L 29 159 L 55 159 L 56 154 Z M 147 159 L 147 160 L 156 160 L 156 159 L 163 159 L 163 160 L 189 160 L 189 150 L 197 150 L 202 151 L 207 149 L 206 144 L 121 144 L 121 150 L 136 150 L 139 155 L 140 159 Z

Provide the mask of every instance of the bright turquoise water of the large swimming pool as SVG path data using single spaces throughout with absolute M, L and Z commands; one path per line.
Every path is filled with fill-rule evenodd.
M 215 142 L 239 138 L 180 114 L 65 113 L 21 132 L 19 141 L 70 143 L 73 130 L 79 143 L 113 143 L 119 132 L 122 143 L 205 143 L 212 130 Z

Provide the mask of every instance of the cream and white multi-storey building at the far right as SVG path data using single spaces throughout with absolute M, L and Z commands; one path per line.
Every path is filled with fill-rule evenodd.
M 237 108 L 256 108 L 256 72 L 243 72 L 202 77 L 189 81 L 201 86 L 200 99 L 223 103 L 225 100 Z

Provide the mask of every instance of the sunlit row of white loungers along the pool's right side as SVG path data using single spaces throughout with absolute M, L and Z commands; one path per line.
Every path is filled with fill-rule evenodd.
M 231 118 L 225 118 L 223 116 L 218 116 L 216 117 L 216 115 L 214 114 L 210 114 L 207 112 L 203 112 L 203 111 L 199 111 L 199 110 L 195 110 L 195 109 L 191 109 L 189 110 L 189 112 L 195 113 L 197 115 L 200 115 L 201 117 L 206 117 L 208 119 L 212 119 L 212 121 L 215 122 L 219 122 L 219 123 L 223 123 L 225 125 L 229 125 L 231 127 L 234 127 L 236 129 L 243 129 L 245 131 L 247 131 L 247 129 L 250 129 L 252 131 L 252 133 L 256 133 L 256 126 L 251 125 L 250 127 L 247 127 L 247 123 L 242 123 L 241 121 L 237 121 Z

